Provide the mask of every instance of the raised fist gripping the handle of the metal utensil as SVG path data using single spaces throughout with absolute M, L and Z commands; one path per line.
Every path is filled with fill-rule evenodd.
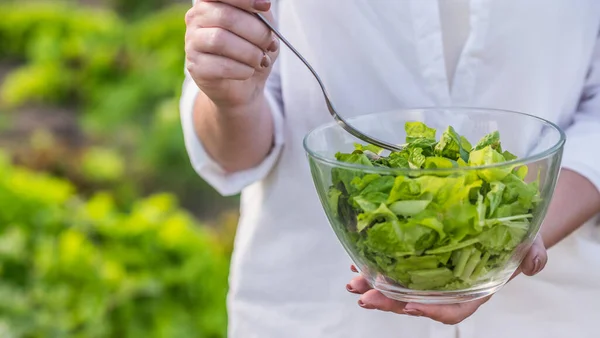
M 269 20 L 269 0 L 198 0 L 185 17 L 186 67 L 219 107 L 245 106 L 263 94 L 279 42 L 254 16 Z

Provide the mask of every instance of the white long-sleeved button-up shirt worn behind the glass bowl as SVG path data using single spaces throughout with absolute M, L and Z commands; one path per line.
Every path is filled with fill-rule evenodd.
M 600 188 L 600 1 L 469 2 L 468 13 L 436 0 L 279 0 L 274 9 L 345 116 L 433 105 L 528 112 L 566 130 L 563 166 Z M 453 24 L 460 15 L 466 29 Z M 598 336 L 593 222 L 555 246 L 540 275 L 518 277 L 457 326 L 361 309 L 345 290 L 351 261 L 324 216 L 302 148 L 306 133 L 331 119 L 312 75 L 282 46 L 266 90 L 274 148 L 261 165 L 232 175 L 194 134 L 197 92 L 187 78 L 181 114 L 191 162 L 222 194 L 242 192 L 230 337 Z

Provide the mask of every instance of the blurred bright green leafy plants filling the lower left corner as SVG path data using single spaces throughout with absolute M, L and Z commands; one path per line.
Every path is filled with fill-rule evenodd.
M 173 196 L 122 210 L 0 153 L 0 205 L 0 336 L 225 337 L 230 244 Z

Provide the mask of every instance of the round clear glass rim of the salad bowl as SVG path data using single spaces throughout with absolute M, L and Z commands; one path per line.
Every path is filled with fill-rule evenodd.
M 430 169 L 370 167 L 370 166 L 361 165 L 361 164 L 338 161 L 335 158 L 329 158 L 327 156 L 323 156 L 323 155 L 317 154 L 316 152 L 312 151 L 308 147 L 308 139 L 310 138 L 310 136 L 322 129 L 337 126 L 338 123 L 336 121 L 321 124 L 321 125 L 313 128 L 312 130 L 310 130 L 304 136 L 302 144 L 303 144 L 304 150 L 310 157 L 315 158 L 321 162 L 332 164 L 332 165 L 335 165 L 338 167 L 345 167 L 345 168 L 349 168 L 349 169 L 368 171 L 368 172 L 372 172 L 372 173 L 388 173 L 389 174 L 390 172 L 398 172 L 398 173 L 411 173 L 411 174 L 414 174 L 414 173 L 436 174 L 436 173 L 442 173 L 442 172 L 448 173 L 451 171 L 471 171 L 471 170 L 483 170 L 483 169 L 523 166 L 523 165 L 526 165 L 531 162 L 536 162 L 536 161 L 542 160 L 544 158 L 547 158 L 547 157 L 557 153 L 558 151 L 563 149 L 566 139 L 567 139 L 567 136 L 566 136 L 565 132 L 562 130 L 562 128 L 560 128 L 556 123 L 549 121 L 547 119 L 541 118 L 536 115 L 522 113 L 522 112 L 513 111 L 513 110 L 485 108 L 485 107 L 430 106 L 430 107 L 399 108 L 399 109 L 392 109 L 392 110 L 388 110 L 388 111 L 380 111 L 380 112 L 362 114 L 362 115 L 354 116 L 352 118 L 348 118 L 347 121 L 349 123 L 351 123 L 353 120 L 357 120 L 360 118 L 365 118 L 365 117 L 372 116 L 372 115 L 389 114 L 389 113 L 393 113 L 393 112 L 411 113 L 411 112 L 427 112 L 427 111 L 434 111 L 434 110 L 455 110 L 455 111 L 477 110 L 480 112 L 506 113 L 506 114 L 530 117 L 530 118 L 537 120 L 538 122 L 541 122 L 542 124 L 546 124 L 546 125 L 549 125 L 550 127 L 552 127 L 555 131 L 558 132 L 558 134 L 560 135 L 560 138 L 556 142 L 556 144 L 554 144 L 552 147 L 549 147 L 548 149 L 546 149 L 542 152 L 535 153 L 535 154 L 527 156 L 527 157 L 517 158 L 517 159 L 511 160 L 511 161 L 482 165 L 482 166 L 469 166 L 469 167 L 456 167 L 456 168 L 430 168 Z

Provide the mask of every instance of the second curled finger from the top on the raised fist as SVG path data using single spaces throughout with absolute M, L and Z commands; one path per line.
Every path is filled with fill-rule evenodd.
M 230 58 L 252 68 L 268 68 L 271 58 L 255 45 L 222 28 L 201 28 L 186 34 L 193 51 Z

